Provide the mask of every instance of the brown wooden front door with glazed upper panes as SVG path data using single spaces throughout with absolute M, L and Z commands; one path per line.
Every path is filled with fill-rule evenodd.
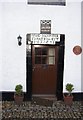
M 57 46 L 32 46 L 32 94 L 56 94 Z

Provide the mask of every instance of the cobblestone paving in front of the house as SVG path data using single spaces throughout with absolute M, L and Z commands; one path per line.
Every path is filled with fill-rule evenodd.
M 67 106 L 63 101 L 54 101 L 52 106 L 40 106 L 32 102 L 17 105 L 14 101 L 2 102 L 2 120 L 83 120 L 83 106 L 74 101 Z

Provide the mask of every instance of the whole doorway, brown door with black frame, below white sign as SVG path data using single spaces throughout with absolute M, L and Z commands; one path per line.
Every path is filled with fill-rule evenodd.
M 26 99 L 33 95 L 55 95 L 63 98 L 65 35 L 55 44 L 34 44 L 26 39 Z

